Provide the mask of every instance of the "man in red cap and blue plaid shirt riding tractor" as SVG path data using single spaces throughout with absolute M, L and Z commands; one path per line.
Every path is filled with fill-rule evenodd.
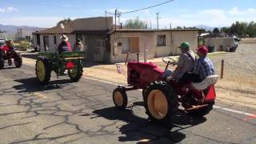
M 208 49 L 206 46 L 198 48 L 198 60 L 194 63 L 191 73 L 186 73 L 179 80 L 179 83 L 184 85 L 187 82 L 202 82 L 205 78 L 214 75 L 214 65 L 207 57 Z

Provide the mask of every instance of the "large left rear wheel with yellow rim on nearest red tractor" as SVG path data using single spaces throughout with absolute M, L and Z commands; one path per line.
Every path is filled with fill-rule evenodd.
M 146 114 L 153 122 L 168 125 L 178 111 L 174 89 L 166 82 L 154 82 L 144 97 Z

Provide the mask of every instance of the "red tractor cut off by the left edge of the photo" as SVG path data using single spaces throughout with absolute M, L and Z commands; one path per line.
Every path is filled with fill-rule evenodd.
M 22 66 L 22 57 L 15 50 L 13 51 L 5 51 L 0 49 L 0 70 L 4 68 L 5 61 L 7 61 L 8 65 L 12 65 L 12 59 L 14 59 L 14 65 L 16 68 Z

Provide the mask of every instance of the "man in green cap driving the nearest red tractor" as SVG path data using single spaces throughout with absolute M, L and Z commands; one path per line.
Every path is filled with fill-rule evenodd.
M 174 74 L 170 77 L 167 77 L 166 80 L 170 81 L 171 79 L 179 79 L 182 78 L 183 74 L 191 71 L 194 62 L 196 61 L 196 56 L 192 50 L 190 50 L 190 43 L 189 42 L 182 42 L 179 48 L 182 51 L 182 54 L 178 58 L 177 67 L 174 70 Z

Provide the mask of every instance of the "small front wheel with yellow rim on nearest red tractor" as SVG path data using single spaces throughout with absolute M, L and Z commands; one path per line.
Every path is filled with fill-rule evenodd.
M 118 87 L 113 91 L 113 102 L 119 109 L 125 109 L 128 103 L 126 90 L 122 87 Z

